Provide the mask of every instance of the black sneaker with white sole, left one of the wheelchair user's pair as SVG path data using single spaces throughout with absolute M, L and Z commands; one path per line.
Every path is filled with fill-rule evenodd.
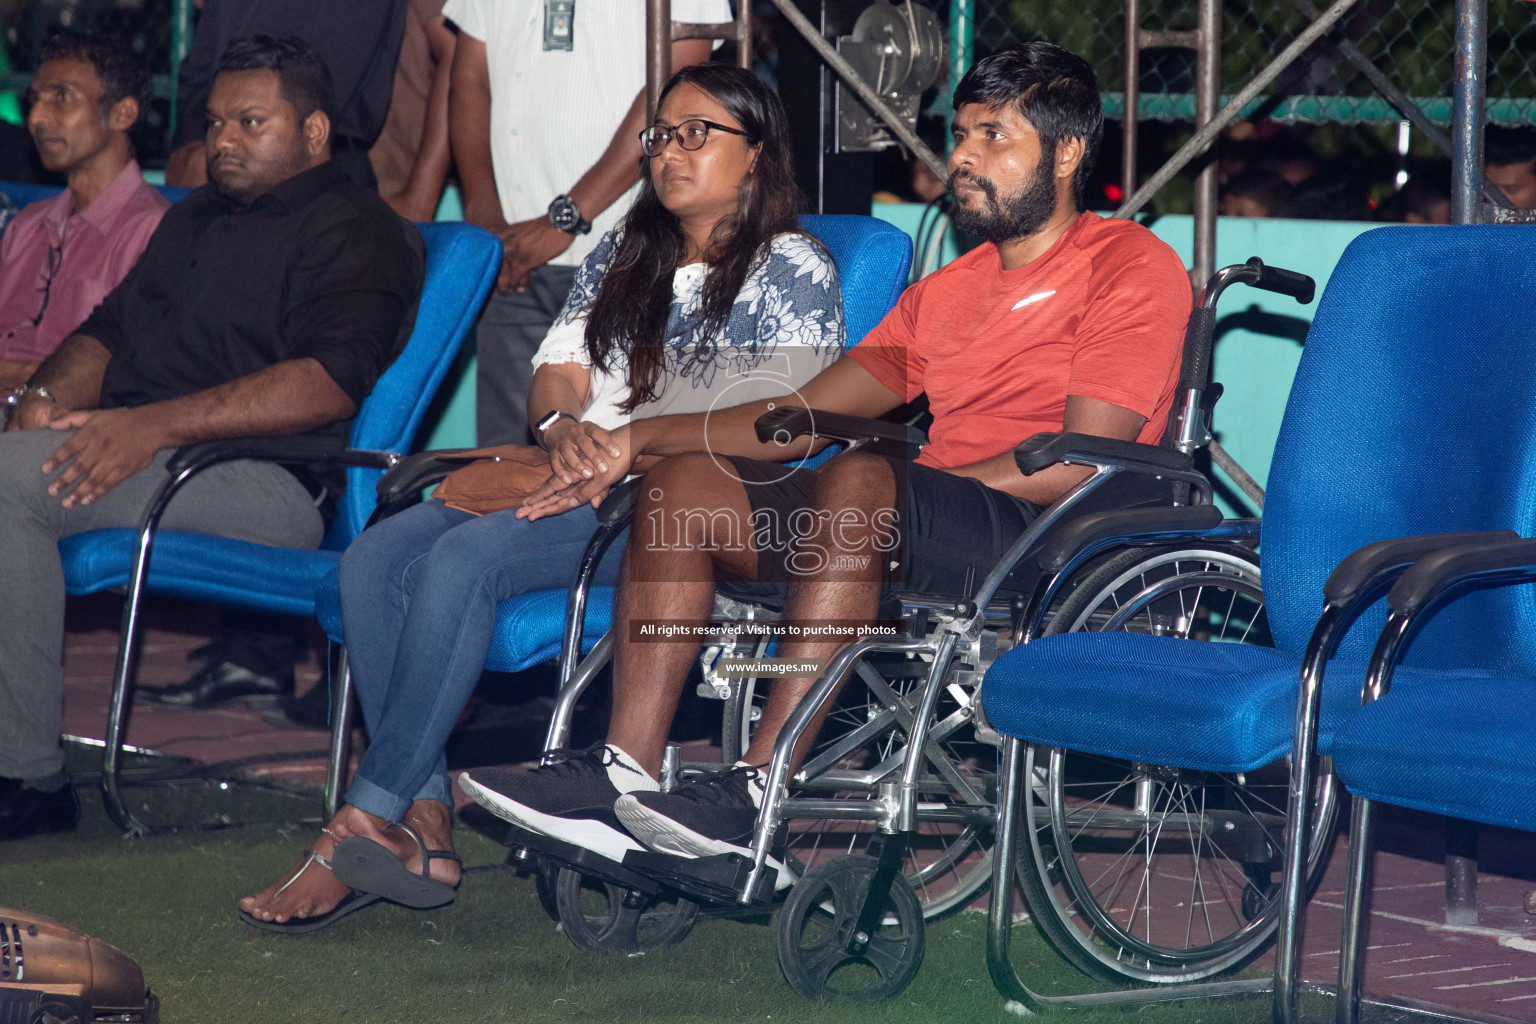
M 627 852 L 645 849 L 613 817 L 621 794 L 608 772 L 633 772 L 642 786 L 656 783 L 602 743 L 562 755 L 538 768 L 476 768 L 459 775 L 459 789 L 498 818 L 608 860 L 622 861 Z

